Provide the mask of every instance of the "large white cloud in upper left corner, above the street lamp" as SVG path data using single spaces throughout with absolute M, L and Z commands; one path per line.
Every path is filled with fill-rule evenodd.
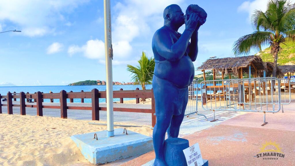
M 72 12 L 89 0 L 3 0 L 0 1 L 0 21 L 16 24 L 20 35 L 42 36 L 54 32 L 59 22 L 67 22 L 62 12 Z

